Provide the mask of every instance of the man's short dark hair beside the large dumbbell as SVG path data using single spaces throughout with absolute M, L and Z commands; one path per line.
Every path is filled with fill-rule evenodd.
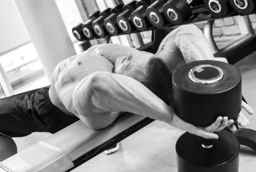
M 147 63 L 146 69 L 148 76 L 141 83 L 167 105 L 173 106 L 172 72 L 169 66 L 160 57 L 152 56 Z

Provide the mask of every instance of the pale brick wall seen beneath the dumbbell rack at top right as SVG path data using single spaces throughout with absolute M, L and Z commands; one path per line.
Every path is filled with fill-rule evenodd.
M 253 28 L 256 29 L 256 14 L 251 14 L 249 17 Z M 196 25 L 198 28 L 204 29 L 204 23 L 198 23 Z M 226 17 L 215 20 L 212 32 L 214 37 L 227 37 L 241 34 L 236 17 Z

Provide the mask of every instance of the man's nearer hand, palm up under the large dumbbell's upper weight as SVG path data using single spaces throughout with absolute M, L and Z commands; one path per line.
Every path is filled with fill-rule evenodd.
M 227 126 L 230 126 L 234 123 L 234 120 L 228 120 L 227 117 L 218 117 L 212 125 L 207 127 L 198 127 L 187 123 L 180 119 L 176 114 L 173 116 L 172 123 L 170 125 L 177 127 L 178 129 L 187 131 L 191 134 L 198 135 L 202 138 L 207 139 L 218 139 L 218 135 L 212 132 L 218 132 Z

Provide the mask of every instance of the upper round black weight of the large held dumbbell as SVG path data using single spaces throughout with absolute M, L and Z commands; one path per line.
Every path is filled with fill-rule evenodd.
M 241 111 L 241 74 L 215 60 L 185 64 L 172 77 L 174 111 L 196 126 L 209 126 L 218 116 L 234 119 Z

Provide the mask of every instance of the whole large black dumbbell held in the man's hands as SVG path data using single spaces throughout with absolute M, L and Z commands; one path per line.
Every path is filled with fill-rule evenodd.
M 235 119 L 241 111 L 241 74 L 228 63 L 199 60 L 180 66 L 172 75 L 172 90 L 175 114 L 196 126 L 211 125 L 221 115 Z M 189 132 L 180 136 L 175 146 L 178 172 L 239 172 L 241 143 L 228 131 L 214 133 L 218 139 Z M 255 137 L 248 138 L 243 141 L 255 145 Z

